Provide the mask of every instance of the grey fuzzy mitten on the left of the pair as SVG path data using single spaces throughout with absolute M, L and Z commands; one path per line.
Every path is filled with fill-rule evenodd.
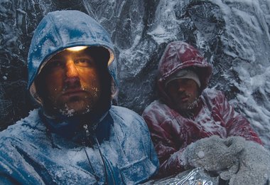
M 234 174 L 238 169 L 238 157 L 243 148 L 241 142 L 233 142 L 218 136 L 200 139 L 185 149 L 181 161 L 184 166 L 200 167 L 217 174 L 231 169 Z

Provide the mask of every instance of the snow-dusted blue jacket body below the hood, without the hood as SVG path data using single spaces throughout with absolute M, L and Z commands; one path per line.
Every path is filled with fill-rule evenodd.
M 124 107 L 112 106 L 92 145 L 84 143 L 89 138 L 67 139 L 47 129 L 33 110 L 1 132 L 0 184 L 138 184 L 157 169 L 144 120 Z

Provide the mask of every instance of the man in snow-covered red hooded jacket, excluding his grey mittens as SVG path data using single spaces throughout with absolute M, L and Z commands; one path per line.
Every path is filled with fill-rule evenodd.
M 212 67 L 193 46 L 169 43 L 158 72 L 160 100 L 148 105 L 143 117 L 158 153 L 160 177 L 184 171 L 181 156 L 186 147 L 205 137 L 239 136 L 261 144 L 249 121 L 234 112 L 225 95 L 207 88 Z

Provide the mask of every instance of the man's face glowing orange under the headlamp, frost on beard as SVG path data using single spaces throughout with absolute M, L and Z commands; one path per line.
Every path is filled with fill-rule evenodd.
M 46 106 L 63 115 L 90 112 L 101 94 L 96 62 L 87 50 L 53 56 L 41 71 Z

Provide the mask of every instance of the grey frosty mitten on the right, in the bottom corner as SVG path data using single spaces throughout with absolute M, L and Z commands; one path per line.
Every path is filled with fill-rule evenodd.
M 237 140 L 239 137 L 229 138 Z M 239 153 L 238 171 L 223 171 L 222 179 L 229 179 L 229 185 L 238 184 L 270 184 L 270 152 L 260 144 L 250 141 L 242 142 Z

